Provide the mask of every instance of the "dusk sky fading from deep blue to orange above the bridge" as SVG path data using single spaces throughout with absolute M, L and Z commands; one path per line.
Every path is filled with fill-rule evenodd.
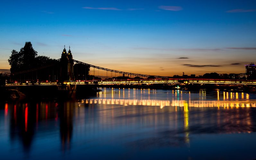
M 0 72 L 30 41 L 38 55 L 59 59 L 70 45 L 73 59 L 124 72 L 245 73 L 256 0 L 2 1 L 0 37 Z

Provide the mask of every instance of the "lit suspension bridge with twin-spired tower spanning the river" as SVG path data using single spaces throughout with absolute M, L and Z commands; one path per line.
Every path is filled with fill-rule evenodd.
M 80 65 L 80 67 L 79 67 Z M 87 68 L 87 69 L 86 69 Z M 98 70 L 98 75 L 97 74 Z M 101 75 L 99 72 L 101 71 Z M 95 74 L 96 72 L 96 74 Z M 74 74 L 75 73 L 75 74 Z M 88 74 L 89 73 L 89 74 Z M 103 75 L 104 74 L 104 75 Z M 256 84 L 256 80 L 241 79 L 201 79 L 201 78 L 172 78 L 169 76 L 146 75 L 103 68 L 78 60 L 74 60 L 70 51 L 62 52 L 61 58 L 53 64 L 31 68 L 19 72 L 2 73 L 8 77 L 6 85 L 52 85 L 64 84 Z M 87 75 L 87 77 L 86 77 Z M 88 77 L 89 76 L 89 77 Z M 98 76 L 96 78 L 96 76 Z M 100 79 L 99 77 L 105 77 Z

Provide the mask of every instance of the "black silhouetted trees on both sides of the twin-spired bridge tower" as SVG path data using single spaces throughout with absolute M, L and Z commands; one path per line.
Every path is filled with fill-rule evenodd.
M 31 42 L 26 42 L 19 52 L 13 50 L 8 62 L 11 66 L 11 75 L 9 78 L 4 78 L 4 83 L 5 79 L 11 82 L 60 80 L 61 62 L 46 56 L 38 56 L 37 52 L 33 49 Z M 75 80 L 90 79 L 89 70 L 90 67 L 88 65 L 75 64 Z

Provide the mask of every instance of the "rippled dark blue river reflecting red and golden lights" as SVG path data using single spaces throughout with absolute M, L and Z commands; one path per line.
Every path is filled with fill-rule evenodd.
M 0 106 L 0 159 L 255 159 L 256 96 L 102 89 Z

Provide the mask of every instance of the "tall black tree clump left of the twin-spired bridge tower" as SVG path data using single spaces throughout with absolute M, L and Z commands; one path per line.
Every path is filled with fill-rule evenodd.
M 8 62 L 11 66 L 11 81 L 55 81 L 57 80 L 57 77 L 60 76 L 60 68 L 58 65 L 59 62 L 46 56 L 38 56 L 37 52 L 33 49 L 31 42 L 26 42 L 24 47 L 20 49 L 20 52 L 13 50 Z M 47 65 L 53 66 L 49 66 L 47 68 L 40 68 Z M 17 74 L 17 72 L 35 68 L 39 69 Z

